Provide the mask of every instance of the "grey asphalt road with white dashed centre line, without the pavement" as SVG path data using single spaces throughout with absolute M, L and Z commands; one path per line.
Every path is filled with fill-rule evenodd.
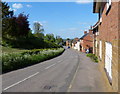
M 75 50 L 2 75 L 3 92 L 67 92 L 79 64 Z

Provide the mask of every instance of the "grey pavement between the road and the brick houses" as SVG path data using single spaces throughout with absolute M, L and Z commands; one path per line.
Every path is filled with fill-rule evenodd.
M 98 63 L 93 62 L 85 53 L 79 53 L 80 63 L 68 92 L 108 92 L 105 87 Z

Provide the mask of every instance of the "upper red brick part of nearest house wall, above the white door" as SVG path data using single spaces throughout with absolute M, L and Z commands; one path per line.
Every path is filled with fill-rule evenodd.
M 102 14 L 102 24 L 99 26 L 99 39 L 112 42 L 118 39 L 118 3 L 112 2 L 111 9 L 106 15 L 106 6 Z

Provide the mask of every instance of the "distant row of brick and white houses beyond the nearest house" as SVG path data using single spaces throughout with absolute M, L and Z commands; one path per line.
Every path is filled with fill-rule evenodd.
M 89 50 L 89 53 L 93 52 L 93 33 L 90 29 L 89 32 L 84 31 L 84 35 L 81 38 L 74 38 L 72 41 L 66 41 L 66 46 L 70 46 L 71 48 L 86 52 L 86 50 Z

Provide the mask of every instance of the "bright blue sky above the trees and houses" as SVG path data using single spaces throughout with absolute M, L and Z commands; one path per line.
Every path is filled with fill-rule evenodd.
M 30 28 L 39 21 L 45 34 L 53 33 L 62 38 L 81 37 L 84 30 L 97 22 L 93 14 L 93 3 L 76 2 L 9 2 L 15 15 L 29 14 Z

